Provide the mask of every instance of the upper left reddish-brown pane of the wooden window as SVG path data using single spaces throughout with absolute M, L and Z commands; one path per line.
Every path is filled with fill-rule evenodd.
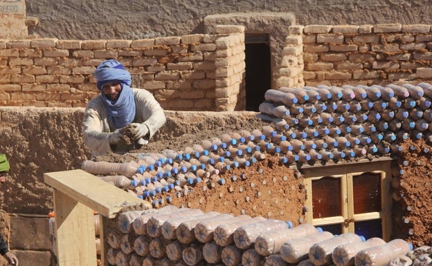
M 312 180 L 314 218 L 341 216 L 341 178 Z

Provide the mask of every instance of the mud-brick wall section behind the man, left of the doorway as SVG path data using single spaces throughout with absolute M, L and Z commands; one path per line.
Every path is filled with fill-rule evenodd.
M 131 72 L 132 85 L 152 92 L 165 109 L 233 111 L 239 104 L 232 95 L 242 91 L 242 31 L 222 26 L 221 34 L 154 39 L 1 40 L 0 104 L 83 107 L 99 93 L 96 66 L 114 58 Z

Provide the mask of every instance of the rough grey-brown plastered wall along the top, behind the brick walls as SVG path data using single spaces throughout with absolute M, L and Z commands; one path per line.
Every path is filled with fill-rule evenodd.
M 26 1 L 39 23 L 29 35 L 59 39 L 143 39 L 204 33 L 209 15 L 289 12 L 298 25 L 432 24 L 427 0 Z M 262 25 L 262 24 L 258 24 Z

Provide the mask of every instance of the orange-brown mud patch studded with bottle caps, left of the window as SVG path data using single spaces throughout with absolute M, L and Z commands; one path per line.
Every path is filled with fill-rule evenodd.
M 231 213 L 233 216 L 262 216 L 290 221 L 293 225 L 303 221 L 303 179 L 296 178 L 294 171 L 280 164 L 278 158 L 268 155 L 251 167 L 232 169 L 219 176 L 225 184 L 198 183 L 186 196 L 175 192 L 156 195 L 155 200 L 161 198 L 163 204 L 155 207 L 167 205 L 165 199 L 170 196 L 170 204 L 177 207 Z

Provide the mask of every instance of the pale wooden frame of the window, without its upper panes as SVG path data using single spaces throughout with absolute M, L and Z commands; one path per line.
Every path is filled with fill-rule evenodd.
M 386 241 L 390 240 L 390 234 L 392 231 L 392 222 L 390 215 L 392 204 L 392 197 L 390 193 L 392 179 L 390 167 L 391 162 L 391 158 L 379 158 L 373 161 L 361 160 L 359 162 L 334 164 L 327 167 L 306 167 L 304 169 L 300 169 L 300 171 L 302 171 L 304 174 L 304 182 L 307 189 L 306 206 L 309 211 L 307 211 L 306 213 L 306 222 L 315 226 L 320 226 L 343 223 L 348 219 L 350 221 L 345 222 L 346 226 L 343 228 L 343 232 L 354 233 L 353 221 L 381 218 L 383 234 L 382 238 Z M 354 201 L 352 178 L 353 175 L 366 172 L 381 173 L 381 211 L 354 214 L 354 210 L 352 209 L 352 202 Z M 342 175 L 346 175 L 346 178 L 341 178 Z M 312 210 L 312 181 L 325 176 L 341 178 L 341 195 L 346 198 L 343 198 L 343 200 L 341 200 L 341 216 L 314 219 Z

